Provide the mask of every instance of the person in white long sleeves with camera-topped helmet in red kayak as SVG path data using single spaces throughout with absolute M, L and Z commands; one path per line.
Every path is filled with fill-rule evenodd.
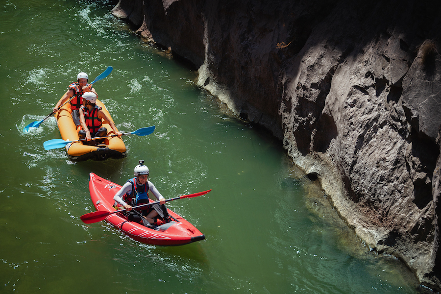
M 149 170 L 144 165 L 144 160 L 139 161 L 139 165 L 135 167 L 135 177 L 129 179 L 123 187 L 118 191 L 113 199 L 121 204 L 128 212 L 132 210 L 132 206 L 148 203 L 148 191 L 150 191 L 156 199 L 160 201 L 161 205 L 155 204 L 147 206 L 145 210 L 138 213 L 128 213 L 126 217 L 130 221 L 145 223 L 141 216 L 148 221 L 148 224 L 157 224 L 154 219 L 159 216 L 161 219 L 168 221 L 167 208 L 165 206 L 165 198 L 159 193 L 155 185 L 148 180 Z M 148 226 L 147 224 L 147 226 Z

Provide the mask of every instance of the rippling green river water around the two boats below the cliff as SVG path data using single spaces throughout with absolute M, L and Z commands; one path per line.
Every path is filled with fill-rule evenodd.
M 111 16 L 115 1 L 1 0 L 0 293 L 421 293 L 395 258 L 377 255 L 292 167 L 281 142 L 228 116 L 196 72 Z M 95 84 L 128 156 L 72 162 L 48 115 L 78 72 Z M 150 180 L 206 239 L 138 243 L 94 211 L 89 173 L 123 184 L 144 159 Z

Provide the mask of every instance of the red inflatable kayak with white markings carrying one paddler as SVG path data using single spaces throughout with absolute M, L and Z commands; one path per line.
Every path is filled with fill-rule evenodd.
M 103 179 L 93 172 L 90 173 L 89 190 L 95 208 L 98 212 L 103 212 L 104 215 L 107 215 L 106 212 L 109 213 L 105 217 L 105 220 L 123 231 L 130 238 L 141 243 L 161 246 L 185 245 L 205 239 L 205 235 L 196 229 L 195 226 L 170 209 L 167 209 L 171 218 L 170 222 L 157 226 L 155 229 L 147 228 L 134 221 L 129 221 L 122 213 L 115 213 L 116 209 L 113 207 L 115 202 L 113 196 L 115 196 L 120 189 L 120 185 Z M 198 193 L 197 196 L 210 191 L 211 190 Z M 174 199 L 177 198 L 179 197 Z M 154 201 L 150 199 L 150 202 Z M 98 212 L 91 213 L 90 215 L 98 214 Z

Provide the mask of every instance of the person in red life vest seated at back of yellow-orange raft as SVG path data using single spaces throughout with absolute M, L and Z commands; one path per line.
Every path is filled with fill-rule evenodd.
M 94 87 L 91 87 L 89 89 L 88 87 L 89 84 L 87 83 L 88 81 L 89 81 L 89 76 L 87 75 L 87 73 L 82 73 L 82 72 L 78 73 L 76 75 L 76 82 L 73 82 L 68 86 L 67 92 L 64 93 L 64 95 L 57 102 L 57 104 L 55 104 L 55 107 L 53 108 L 53 112 L 55 113 L 58 111 L 58 107 L 63 105 L 64 102 L 66 102 L 68 99 L 73 98 L 69 103 L 72 110 L 73 123 L 75 123 L 75 126 L 77 128 L 80 125 L 79 108 L 81 107 L 81 105 L 83 105 L 83 99 L 82 99 L 83 93 L 91 91 L 95 93 L 95 95 L 97 95 L 98 97 L 98 94 L 95 91 Z

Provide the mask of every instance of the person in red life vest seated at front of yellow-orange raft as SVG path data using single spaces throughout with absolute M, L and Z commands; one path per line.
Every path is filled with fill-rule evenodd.
M 122 133 L 117 130 L 115 123 L 107 117 L 101 107 L 95 104 L 97 102 L 97 95 L 94 92 L 86 92 L 82 95 L 82 98 L 83 105 L 79 109 L 82 129 L 78 131 L 78 137 L 86 139 L 86 144 L 88 145 L 101 143 L 104 139 L 97 140 L 98 142 L 93 142 L 95 140 L 91 142 L 91 139 L 92 137 L 104 137 L 107 135 L 107 128 L 102 126 L 102 121 L 110 124 L 114 133 L 121 137 Z

